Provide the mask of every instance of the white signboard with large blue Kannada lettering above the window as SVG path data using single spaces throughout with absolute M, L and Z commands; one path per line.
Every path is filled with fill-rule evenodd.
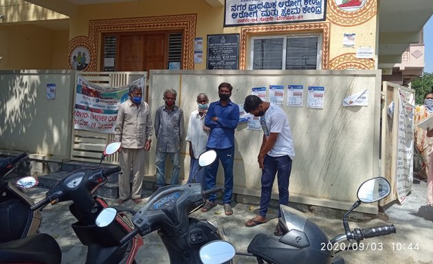
M 224 27 L 326 20 L 326 0 L 225 0 Z

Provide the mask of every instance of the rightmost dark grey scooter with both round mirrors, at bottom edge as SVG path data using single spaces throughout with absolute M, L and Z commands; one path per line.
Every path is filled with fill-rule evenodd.
M 254 256 L 258 263 L 335 263 L 344 264 L 344 259 L 335 256 L 344 250 L 360 249 L 363 244 L 360 241 L 375 236 L 384 236 L 395 233 L 394 225 L 384 225 L 376 228 L 360 229 L 353 231 L 348 225 L 348 214 L 361 203 L 373 203 L 384 199 L 390 194 L 390 184 L 383 177 L 368 179 L 359 186 L 356 201 L 344 214 L 344 234 L 339 234 L 328 240 L 325 232 L 318 225 L 309 221 L 307 215 L 302 212 L 280 206 L 281 215 L 278 225 L 283 230 L 283 236 L 276 239 L 266 234 L 256 234 L 249 243 L 247 252 L 238 253 L 233 245 L 227 241 L 212 241 L 200 249 L 200 259 L 203 264 L 218 264 L 230 261 L 235 254 Z M 349 241 L 351 245 L 340 243 Z

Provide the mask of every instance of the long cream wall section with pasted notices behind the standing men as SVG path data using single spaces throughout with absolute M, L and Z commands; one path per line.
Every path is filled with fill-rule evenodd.
M 231 83 L 232 100 L 243 103 L 252 87 L 285 85 L 282 109 L 289 117 L 295 140 L 291 201 L 334 208 L 348 208 L 356 200 L 356 191 L 365 179 L 379 176 L 380 72 L 348 71 L 151 71 L 149 102 L 152 112 L 162 105 L 167 88 L 178 92 L 177 104 L 188 117 L 195 110 L 195 98 L 205 92 L 210 101 L 218 100 L 218 85 Z M 287 107 L 287 85 L 304 86 L 304 107 Z M 307 108 L 309 86 L 325 87 L 324 109 Z M 368 107 L 342 107 L 347 96 L 368 89 Z M 263 132 L 239 124 L 235 133 L 235 192 L 260 195 L 261 170 L 257 155 Z M 185 135 L 184 135 L 185 137 Z M 151 153 L 155 153 L 155 145 Z M 186 142 L 181 146 L 181 175 L 188 178 L 189 154 Z M 150 155 L 149 175 L 155 174 L 155 159 Z M 167 164 L 170 164 L 168 161 Z M 185 168 L 185 170 L 183 169 Z M 170 176 L 170 169 L 166 170 Z M 219 182 L 223 182 L 221 167 Z M 182 176 L 181 176 L 182 177 Z M 274 190 L 277 191 L 276 184 Z

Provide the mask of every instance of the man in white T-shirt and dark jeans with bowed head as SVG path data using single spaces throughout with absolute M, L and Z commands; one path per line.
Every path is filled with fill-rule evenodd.
M 271 102 L 263 102 L 258 96 L 247 96 L 243 109 L 246 113 L 260 116 L 260 126 L 263 129 L 262 145 L 257 157 L 258 166 L 262 169 L 260 210 L 256 217 L 245 223 L 245 226 L 251 228 L 267 221 L 266 213 L 276 174 L 278 177 L 278 202 L 285 206 L 289 205 L 289 178 L 295 149 L 289 120 L 280 107 Z M 281 217 L 280 211 L 278 211 L 278 217 Z M 282 236 L 282 230 L 278 224 L 274 234 Z

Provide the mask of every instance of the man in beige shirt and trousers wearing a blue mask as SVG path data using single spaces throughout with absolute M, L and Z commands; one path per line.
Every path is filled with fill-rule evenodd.
M 151 109 L 142 101 L 142 88 L 129 88 L 129 98 L 120 104 L 115 124 L 114 141 L 122 142 L 119 162 L 122 174 L 119 175 L 119 199 L 121 204 L 129 197 L 140 203 L 142 201 L 142 184 L 144 176 L 144 153 L 151 148 L 152 119 Z M 132 192 L 129 176 L 132 169 Z

